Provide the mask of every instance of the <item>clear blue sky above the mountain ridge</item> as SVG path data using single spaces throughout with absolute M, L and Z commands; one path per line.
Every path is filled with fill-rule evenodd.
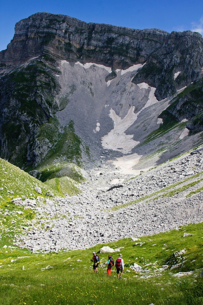
M 0 50 L 13 38 L 15 23 L 37 12 L 135 29 L 195 30 L 203 34 L 202 7 L 202 0 L 0 0 Z

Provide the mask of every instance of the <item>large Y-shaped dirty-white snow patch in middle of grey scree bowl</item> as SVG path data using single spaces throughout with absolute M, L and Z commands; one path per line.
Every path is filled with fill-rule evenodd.
M 102 146 L 106 149 L 113 149 L 120 151 L 122 149 L 123 154 L 131 152 L 139 141 L 134 141 L 133 135 L 126 135 L 126 131 L 137 119 L 137 114 L 134 113 L 135 107 L 131 106 L 127 115 L 121 119 L 115 111 L 111 108 L 109 116 L 114 121 L 114 129 L 112 129 L 108 135 L 103 136 Z M 120 149 L 119 149 L 120 148 Z

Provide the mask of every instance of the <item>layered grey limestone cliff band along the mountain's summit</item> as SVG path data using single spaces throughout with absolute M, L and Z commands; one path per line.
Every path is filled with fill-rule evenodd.
M 163 99 L 201 78 L 202 46 L 201 34 L 191 31 L 134 30 L 37 13 L 16 23 L 14 38 L 0 52 L 0 61 L 5 68 L 48 53 L 56 60 L 91 61 L 113 69 L 147 62 L 133 81 L 156 87 L 157 98 Z

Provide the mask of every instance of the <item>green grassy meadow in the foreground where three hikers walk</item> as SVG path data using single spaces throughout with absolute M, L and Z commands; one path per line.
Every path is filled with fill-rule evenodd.
M 191 235 L 183 237 L 184 233 Z M 145 242 L 142 246 L 134 246 L 135 242 L 131 239 L 108 244 L 113 248 L 124 247 L 120 250 L 126 264 L 121 280 L 117 280 L 115 270 L 112 271 L 112 276 L 108 277 L 106 266 L 100 269 L 98 274 L 91 271 L 92 251 L 99 252 L 100 247 L 104 245 L 57 254 L 33 254 L 25 249 L 2 248 L 1 245 L 1 303 L 201 304 L 202 224 L 190 224 L 178 230 L 140 239 Z M 173 253 L 183 249 L 183 255 L 176 258 L 173 256 Z M 112 255 L 114 259 L 118 253 Z M 17 257 L 19 259 L 16 260 Z M 107 257 L 108 253 L 100 254 L 100 267 L 107 261 Z M 141 274 L 130 269 L 130 265 L 135 262 L 144 269 Z M 163 271 L 159 269 L 166 263 L 168 268 Z M 173 264 L 174 268 L 171 269 Z M 180 278 L 173 276 L 180 271 L 194 273 Z

